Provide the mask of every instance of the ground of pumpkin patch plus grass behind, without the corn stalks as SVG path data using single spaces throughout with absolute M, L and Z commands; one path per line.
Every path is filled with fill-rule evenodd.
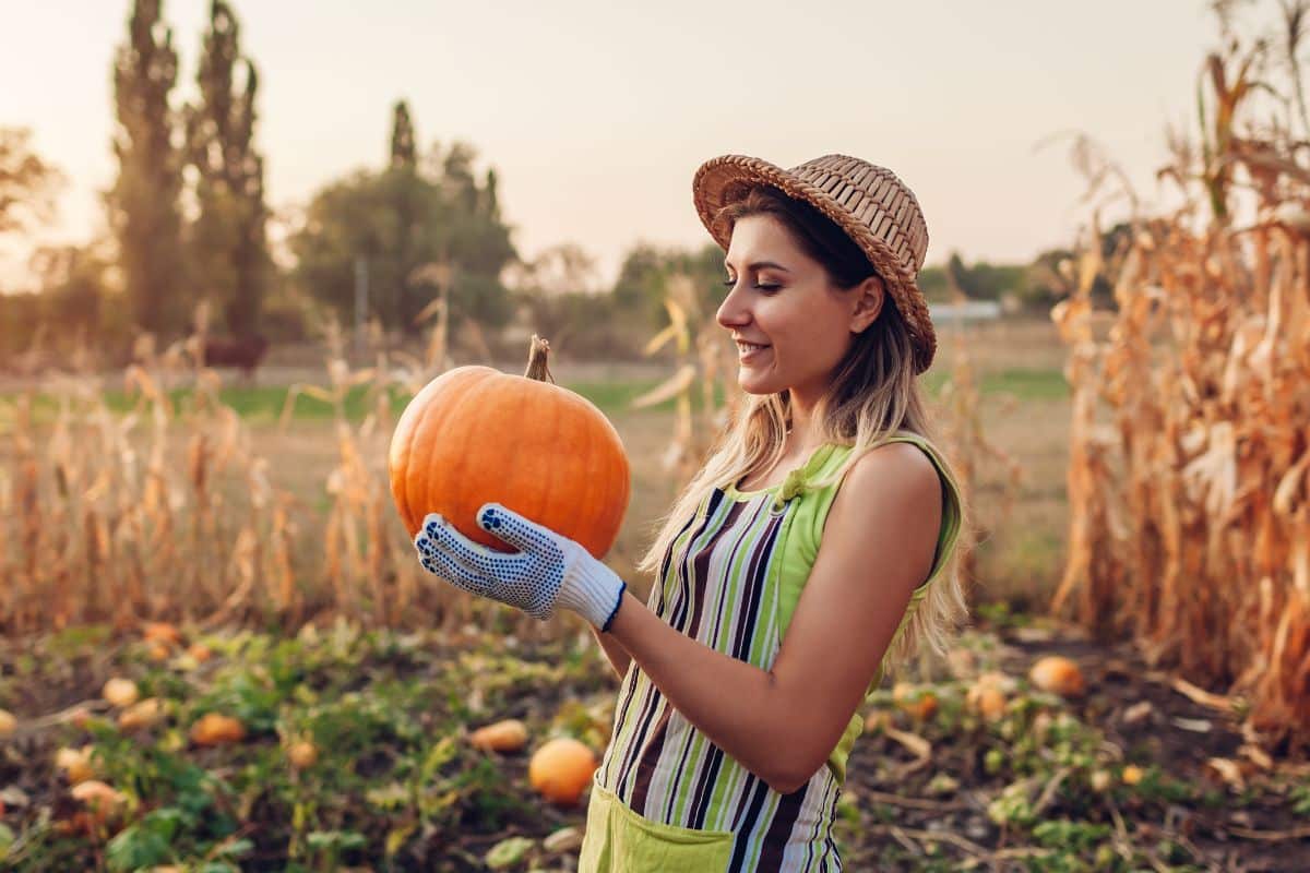
M 980 387 L 984 433 L 1020 478 L 1011 483 L 1001 461 L 977 471 L 973 513 L 984 539 L 975 628 L 948 662 L 901 677 L 912 700 L 931 705 L 912 712 L 896 700 L 907 688 L 893 695 L 888 686 L 865 713 L 840 815 L 848 869 L 1310 868 L 1310 770 L 1262 758 L 1239 729 L 1241 700 L 1040 616 L 1062 571 L 1068 527 L 1070 401 L 1053 327 L 943 330 L 938 365 L 925 377 L 934 398 L 956 342 Z M 324 378 L 312 355 L 282 351 L 258 385 L 229 378 L 220 393 L 301 518 L 328 514 L 328 474 L 341 463 L 329 403 L 301 395 L 287 414 L 290 386 Z M 648 581 L 631 567 L 673 496 L 659 461 L 673 411 L 630 403 L 668 366 L 563 359 L 554 373 L 614 421 L 633 459 L 633 500 L 609 560 L 645 594 Z M 106 377 L 101 397 L 126 412 L 135 401 L 119 385 Z M 0 386 L 8 401 L 0 415 L 14 415 L 24 387 Z M 185 385 L 173 391 L 183 406 L 191 397 Z M 397 393 L 392 414 L 405 401 Z M 363 389 L 342 408 L 351 423 L 364 420 Z M 38 433 L 56 415 L 54 399 L 35 398 Z M 12 424 L 0 420 L 0 432 Z M 359 435 L 371 467 L 384 465 L 388 438 L 388 427 Z M 402 542 L 398 522 L 388 524 Z M 322 548 L 320 533 L 296 534 L 304 565 Z M 18 726 L 0 746 L 0 857 L 20 870 L 574 869 L 584 813 L 532 794 L 528 751 L 552 734 L 601 750 L 617 678 L 571 616 L 531 637 L 506 613 L 469 618 L 363 630 L 334 616 L 293 632 L 182 622 L 183 639 L 162 644 L 140 628 L 107 626 L 8 640 L 0 708 Z M 1032 686 L 1028 669 L 1051 653 L 1081 665 L 1086 694 L 1064 699 Z M 141 698 L 160 702 L 152 724 L 118 724 L 121 712 L 101 699 L 111 677 L 131 678 Z M 1003 707 L 984 713 L 971 696 L 990 682 Z M 238 717 L 246 736 L 198 742 L 189 729 L 208 712 Z M 528 750 L 469 746 L 472 729 L 507 717 L 528 725 Z M 297 742 L 313 745 L 313 762 L 292 763 Z M 84 745 L 96 747 L 96 777 L 122 792 L 122 830 L 80 813 L 55 766 L 59 747 Z

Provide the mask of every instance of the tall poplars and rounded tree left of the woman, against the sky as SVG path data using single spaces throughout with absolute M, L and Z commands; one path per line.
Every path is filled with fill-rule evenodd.
M 517 260 L 500 215 L 494 170 L 476 170 L 465 143 L 418 148 L 405 101 L 393 107 L 390 153 L 317 191 L 279 267 L 258 147 L 261 76 L 244 51 L 231 3 L 212 0 L 200 39 L 195 98 L 176 99 L 179 63 L 161 0 L 132 0 L 113 62 L 117 175 L 105 192 L 109 236 L 39 249 L 39 293 L 0 293 L 0 339 L 13 349 L 45 331 L 60 339 L 131 346 L 190 332 L 200 301 L 208 330 L 295 339 L 316 317 L 365 317 L 417 331 L 434 264 L 452 272 L 452 312 L 498 322 L 511 309 L 499 275 Z M 0 233 L 30 232 L 52 213 L 60 177 L 30 134 L 0 127 Z M 0 289 L 4 291 L 4 289 Z

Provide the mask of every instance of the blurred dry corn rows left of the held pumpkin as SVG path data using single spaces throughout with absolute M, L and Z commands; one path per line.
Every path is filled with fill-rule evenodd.
M 328 383 L 292 386 L 282 416 L 286 425 L 301 395 L 335 410 L 325 513 L 279 487 L 278 459 L 253 449 L 250 427 L 220 401 L 219 374 L 199 364 L 203 327 L 162 352 L 139 346 L 123 373 L 134 403 L 126 415 L 109 408 L 110 386 L 89 372 L 43 383 L 52 414 L 35 408 L 35 386 L 0 401 L 9 423 L 0 442 L 0 628 L 179 620 L 291 630 L 347 616 L 457 635 L 485 626 L 491 610 L 524 639 L 550 632 L 422 572 L 393 509 L 390 398 L 436 376 L 444 338 L 438 313 L 426 360 L 380 353 L 376 365 L 351 369 L 343 335 L 330 329 Z M 176 386 L 191 389 L 185 403 Z M 372 411 L 352 424 L 345 399 L 356 386 Z

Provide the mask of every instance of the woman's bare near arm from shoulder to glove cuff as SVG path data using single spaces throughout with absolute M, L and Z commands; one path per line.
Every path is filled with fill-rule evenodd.
M 790 793 L 823 766 L 863 700 L 931 567 L 941 512 L 941 479 L 922 452 L 891 444 L 861 458 L 769 671 L 676 631 L 629 593 L 599 636 L 629 652 L 710 741 Z

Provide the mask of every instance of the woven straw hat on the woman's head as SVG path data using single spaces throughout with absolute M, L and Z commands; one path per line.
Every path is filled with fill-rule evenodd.
M 715 157 L 696 171 L 692 194 L 701 223 L 724 251 L 731 234 L 715 226 L 714 216 L 756 185 L 804 200 L 850 234 L 909 327 L 914 372 L 926 370 L 937 352 L 937 334 L 916 281 L 927 250 L 927 226 L 914 192 L 891 170 L 845 154 L 825 154 L 790 170 L 744 154 Z

